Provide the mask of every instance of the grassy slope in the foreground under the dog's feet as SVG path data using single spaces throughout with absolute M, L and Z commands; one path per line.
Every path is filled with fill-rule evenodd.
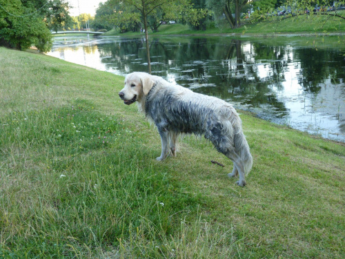
M 202 138 L 157 162 L 123 77 L 5 48 L 0 64 L 0 258 L 345 257 L 344 144 L 242 114 L 240 188 Z

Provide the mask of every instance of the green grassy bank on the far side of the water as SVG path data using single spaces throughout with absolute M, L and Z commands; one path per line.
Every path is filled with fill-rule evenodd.
M 338 11 L 338 15 L 345 16 L 345 11 Z M 262 21 L 255 24 L 246 24 L 235 30 L 208 28 L 204 30 L 191 30 L 182 24 L 166 24 L 159 27 L 159 31 L 152 35 L 217 35 L 217 34 L 237 34 L 237 35 L 272 35 L 272 34 L 315 34 L 345 32 L 344 19 L 331 17 L 328 15 L 301 15 L 282 19 L 282 21 Z M 111 35 L 139 35 L 138 32 L 126 32 L 119 34 L 116 30 L 106 32 L 104 36 Z

